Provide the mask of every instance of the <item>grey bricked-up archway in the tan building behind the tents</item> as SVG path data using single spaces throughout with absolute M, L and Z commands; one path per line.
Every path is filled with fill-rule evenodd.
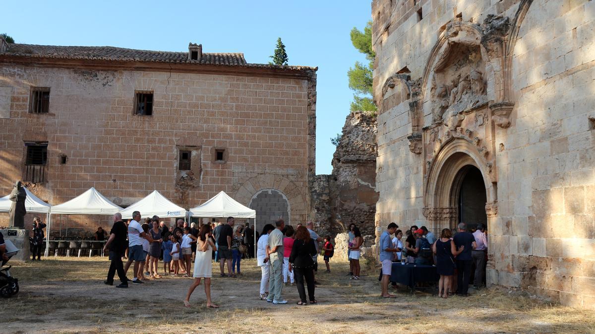
M 281 191 L 275 189 L 263 189 L 252 196 L 250 209 L 256 210 L 256 217 L 259 222 L 274 223 L 275 220 L 281 218 L 286 225 L 290 223 L 290 204 L 287 197 Z

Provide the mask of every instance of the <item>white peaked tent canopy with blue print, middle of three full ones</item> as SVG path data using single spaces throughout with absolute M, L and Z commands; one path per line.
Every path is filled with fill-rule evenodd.
M 186 217 L 186 209 L 172 203 L 156 190 L 151 194 L 148 194 L 148 196 L 142 200 L 121 210 L 120 213 L 122 213 L 122 219 L 132 218 L 132 213 L 134 211 L 140 212 L 140 215 L 143 217 L 155 215 L 159 216 L 159 218 Z

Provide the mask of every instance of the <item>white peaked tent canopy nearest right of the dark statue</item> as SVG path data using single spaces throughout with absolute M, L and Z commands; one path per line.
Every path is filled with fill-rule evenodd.
M 109 201 L 95 188 L 74 197 L 70 201 L 52 206 L 51 213 L 64 215 L 113 215 L 120 212 L 121 207 Z

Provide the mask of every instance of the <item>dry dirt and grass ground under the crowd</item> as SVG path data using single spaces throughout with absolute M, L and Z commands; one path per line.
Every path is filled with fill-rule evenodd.
M 260 269 L 245 260 L 242 277 L 215 275 L 212 297 L 218 310 L 205 307 L 202 285 L 192 295 L 192 308 L 183 307 L 191 278 L 163 278 L 128 289 L 104 285 L 107 257 L 11 264 L 21 291 L 0 300 L 3 333 L 595 333 L 595 312 L 546 304 L 501 288 L 446 300 L 399 288 L 392 291 L 397 298 L 380 298 L 373 266 L 360 281 L 352 281 L 345 275 L 348 264 L 332 260 L 332 272 L 317 275 L 319 304 L 296 305 L 295 286 L 283 288 L 289 304 L 259 300 Z M 218 273 L 218 266 L 214 269 Z

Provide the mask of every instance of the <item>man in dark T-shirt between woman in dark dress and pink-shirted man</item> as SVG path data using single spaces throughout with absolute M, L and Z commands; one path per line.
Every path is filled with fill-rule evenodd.
M 462 249 L 462 252 L 456 256 L 456 269 L 458 271 L 458 290 L 456 293 L 466 297 L 468 296 L 469 278 L 471 277 L 471 267 L 473 265 L 471 250 L 477 248 L 477 243 L 473 235 L 467 232 L 467 225 L 465 223 L 459 223 L 457 228 L 459 232 L 455 234 L 453 241 L 455 241 L 457 249 Z

